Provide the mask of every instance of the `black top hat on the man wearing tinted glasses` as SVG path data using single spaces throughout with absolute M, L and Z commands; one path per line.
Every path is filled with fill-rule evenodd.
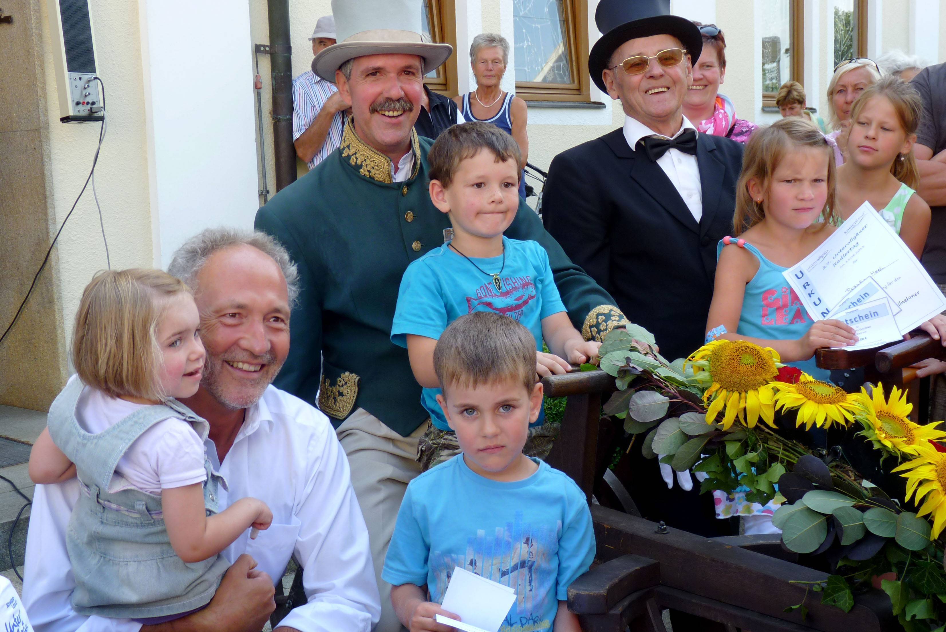
M 686 18 L 670 15 L 670 0 L 601 0 L 594 12 L 594 21 L 602 36 L 591 47 L 588 72 L 602 92 L 607 92 L 601 73 L 608 58 L 628 40 L 673 35 L 687 49 L 693 63 L 703 49 L 700 29 Z

